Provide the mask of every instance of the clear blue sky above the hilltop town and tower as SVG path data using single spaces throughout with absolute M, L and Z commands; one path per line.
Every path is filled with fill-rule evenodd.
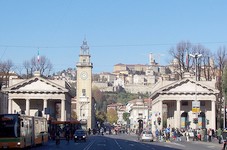
M 74 68 L 85 36 L 94 73 L 112 72 L 117 63 L 147 64 L 149 53 L 164 65 L 182 40 L 213 52 L 227 46 L 227 1 L 0 1 L 0 59 L 18 68 L 38 49 L 53 71 Z

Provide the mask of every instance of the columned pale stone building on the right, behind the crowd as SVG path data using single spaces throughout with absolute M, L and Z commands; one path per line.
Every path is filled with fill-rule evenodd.
M 218 90 L 213 81 L 195 81 L 184 78 L 179 81 L 159 82 L 152 99 L 152 131 L 163 128 L 163 104 L 167 105 L 167 126 L 174 128 L 216 129 L 215 104 Z M 199 103 L 199 109 L 192 109 Z M 198 110 L 198 111 L 197 111 Z M 194 120 L 197 119 L 196 123 Z M 158 122 L 160 120 L 160 122 Z

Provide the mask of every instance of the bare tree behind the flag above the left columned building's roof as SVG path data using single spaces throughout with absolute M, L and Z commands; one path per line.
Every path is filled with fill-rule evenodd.
M 41 56 L 40 59 L 33 56 L 30 61 L 24 61 L 23 66 L 26 70 L 27 78 L 31 77 L 34 71 L 40 71 L 41 75 L 48 76 L 53 69 L 52 63 L 46 56 Z

